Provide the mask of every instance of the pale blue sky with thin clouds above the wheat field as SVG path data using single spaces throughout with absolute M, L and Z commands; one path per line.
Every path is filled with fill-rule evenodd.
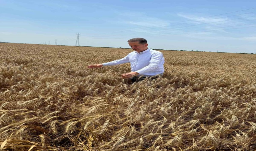
M 256 1 L 0 0 L 2 42 L 72 46 L 78 32 L 82 46 L 256 53 Z

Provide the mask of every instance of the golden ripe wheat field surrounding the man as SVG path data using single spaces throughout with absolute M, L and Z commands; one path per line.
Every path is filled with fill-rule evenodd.
M 161 51 L 161 79 L 131 49 L 0 43 L 0 150 L 254 151 L 256 55 Z

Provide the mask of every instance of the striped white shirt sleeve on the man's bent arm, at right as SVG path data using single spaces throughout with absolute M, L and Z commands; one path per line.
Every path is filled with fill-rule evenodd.
M 155 68 L 157 68 L 159 66 L 160 61 L 162 60 L 162 58 L 163 58 L 163 54 L 162 53 L 153 54 L 151 56 L 150 61 L 149 61 L 149 65 L 145 66 L 142 69 L 139 69 L 139 70 L 137 70 L 135 72 L 137 72 L 139 74 L 143 74 L 145 72 L 149 72 L 149 71 L 154 70 Z

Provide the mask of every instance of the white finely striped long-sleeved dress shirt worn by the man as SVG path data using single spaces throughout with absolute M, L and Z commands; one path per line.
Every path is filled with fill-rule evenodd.
M 118 65 L 123 63 L 131 63 L 132 72 L 138 72 L 137 76 L 153 76 L 163 74 L 164 57 L 162 52 L 148 48 L 138 53 L 133 51 L 122 59 L 103 63 L 103 66 Z

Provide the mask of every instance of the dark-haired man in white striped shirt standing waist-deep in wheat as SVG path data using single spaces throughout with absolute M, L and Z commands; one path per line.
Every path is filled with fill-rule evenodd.
M 88 68 L 99 68 L 102 66 L 118 65 L 123 63 L 131 63 L 131 71 L 122 74 L 121 77 L 130 78 L 132 82 L 141 81 L 147 77 L 155 79 L 155 75 L 163 75 L 164 57 L 159 51 L 148 48 L 148 42 L 144 38 L 133 38 L 128 40 L 130 47 L 135 50 L 122 59 L 89 65 Z

